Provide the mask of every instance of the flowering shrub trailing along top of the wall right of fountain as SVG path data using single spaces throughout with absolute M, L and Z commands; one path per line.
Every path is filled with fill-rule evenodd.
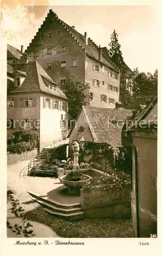
M 103 175 L 101 177 L 95 177 L 87 180 L 83 186 L 84 190 L 95 190 L 96 186 L 100 186 L 104 189 L 117 189 L 120 190 L 123 187 L 131 184 L 131 179 L 128 174 L 125 173 L 112 173 L 111 175 Z

